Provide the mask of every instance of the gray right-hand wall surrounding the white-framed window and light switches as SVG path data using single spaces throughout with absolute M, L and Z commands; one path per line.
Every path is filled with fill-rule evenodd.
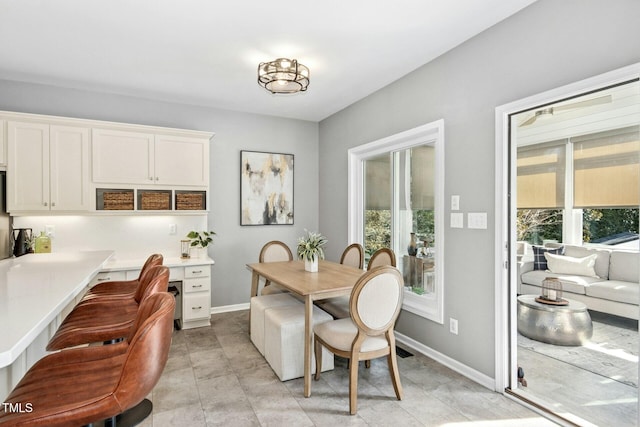
M 487 230 L 445 230 L 445 325 L 403 312 L 398 331 L 494 377 L 495 108 L 640 61 L 637 0 L 539 0 L 320 123 L 320 229 L 347 244 L 347 149 L 445 120 L 445 218 L 487 212 Z M 420 41 L 429 43 L 429 40 Z M 465 219 L 466 226 L 466 219 Z M 449 318 L 459 335 L 449 333 Z

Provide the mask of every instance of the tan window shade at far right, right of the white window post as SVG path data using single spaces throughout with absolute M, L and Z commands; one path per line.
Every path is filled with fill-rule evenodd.
M 574 206 L 638 207 L 640 126 L 572 138 Z

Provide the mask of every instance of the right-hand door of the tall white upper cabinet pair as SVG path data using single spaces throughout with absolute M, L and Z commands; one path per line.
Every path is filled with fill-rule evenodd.
M 51 126 L 50 138 L 51 210 L 89 210 L 89 129 Z

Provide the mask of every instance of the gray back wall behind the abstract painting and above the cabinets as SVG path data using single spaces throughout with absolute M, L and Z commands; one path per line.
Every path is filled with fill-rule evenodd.
M 0 110 L 215 132 L 208 219 L 209 229 L 218 233 L 209 251 L 216 262 L 213 307 L 249 302 L 251 274 L 245 264 L 257 262 L 264 243 L 278 239 L 294 248 L 305 228 L 318 228 L 317 123 L 2 80 Z M 295 155 L 295 225 L 239 225 L 240 150 Z

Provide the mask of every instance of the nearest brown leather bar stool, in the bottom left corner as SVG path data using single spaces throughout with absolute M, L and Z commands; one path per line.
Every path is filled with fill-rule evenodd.
M 108 419 L 135 425 L 151 412 L 145 399 L 169 356 L 175 299 L 145 299 L 125 341 L 73 348 L 39 360 L 4 402 L 30 411 L 0 411 L 2 426 L 78 426 Z M 20 406 L 22 405 L 22 406 Z M 141 419 L 128 418 L 143 405 Z

